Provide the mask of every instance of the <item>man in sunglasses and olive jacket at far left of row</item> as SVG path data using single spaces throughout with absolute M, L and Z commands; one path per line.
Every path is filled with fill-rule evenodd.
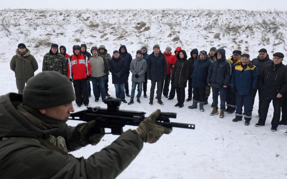
M 16 86 L 19 94 L 23 93 L 25 83 L 38 70 L 38 63 L 30 53 L 25 44 L 19 44 L 18 49 L 16 49 L 16 55 L 10 61 L 10 68 L 15 72 Z

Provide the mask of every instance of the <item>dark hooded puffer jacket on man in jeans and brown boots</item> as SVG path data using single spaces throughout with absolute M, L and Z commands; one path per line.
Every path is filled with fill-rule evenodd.
M 221 59 L 217 59 L 217 53 L 222 54 Z M 215 56 L 217 60 L 214 61 L 209 68 L 207 83 L 216 83 L 228 86 L 231 78 L 231 64 L 225 58 L 225 50 L 221 48 L 218 49 Z

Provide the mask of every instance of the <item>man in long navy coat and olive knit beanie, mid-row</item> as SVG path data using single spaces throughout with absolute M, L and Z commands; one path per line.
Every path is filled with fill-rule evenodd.
M 152 81 L 152 86 L 150 87 L 149 105 L 153 104 L 156 83 L 158 104 L 163 105 L 164 103 L 161 101 L 161 83 L 167 77 L 167 61 L 164 54 L 161 53 L 158 44 L 155 44 L 152 49 L 153 52 L 149 55 L 146 69 L 147 79 Z

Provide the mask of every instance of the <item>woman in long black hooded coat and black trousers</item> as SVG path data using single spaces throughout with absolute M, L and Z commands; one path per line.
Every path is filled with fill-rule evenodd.
M 171 84 L 175 87 L 177 101 L 175 107 L 183 107 L 185 98 L 185 87 L 189 78 L 190 63 L 187 60 L 187 55 L 184 50 L 180 50 L 176 56 L 173 72 L 171 75 Z

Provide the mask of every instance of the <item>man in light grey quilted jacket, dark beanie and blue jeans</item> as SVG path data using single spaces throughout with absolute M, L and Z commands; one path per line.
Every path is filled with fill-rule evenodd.
M 146 61 L 141 50 L 137 51 L 136 58 L 132 60 L 130 71 L 132 72 L 132 93 L 128 104 L 134 104 L 135 88 L 138 85 L 137 102 L 141 103 L 141 92 L 143 91 L 144 73 L 146 72 Z

